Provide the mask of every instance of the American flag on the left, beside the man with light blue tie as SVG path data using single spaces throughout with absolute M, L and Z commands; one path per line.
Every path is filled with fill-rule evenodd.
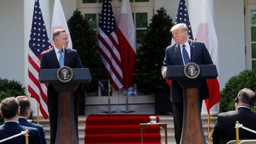
M 38 81 L 40 70 L 41 52 L 50 47 L 46 32 L 46 25 L 43 21 L 39 0 L 35 1 L 33 10 L 33 21 L 28 49 L 28 92 L 40 104 L 40 111 L 44 118 L 48 118 L 47 85 Z

